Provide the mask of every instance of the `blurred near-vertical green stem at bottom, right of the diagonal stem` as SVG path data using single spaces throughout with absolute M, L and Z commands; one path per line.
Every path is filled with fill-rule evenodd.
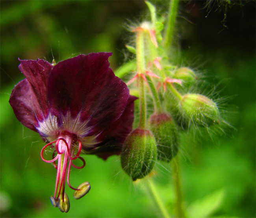
M 182 190 L 181 190 L 181 182 L 180 182 L 180 165 L 178 160 L 178 155 L 173 159 L 173 182 L 174 182 L 174 191 L 176 196 L 175 203 L 175 212 L 177 218 L 184 218 L 185 213 L 182 207 Z

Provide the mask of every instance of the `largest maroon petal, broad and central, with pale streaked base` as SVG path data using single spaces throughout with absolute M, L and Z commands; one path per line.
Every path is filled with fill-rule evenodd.
M 129 90 L 109 68 L 110 55 L 81 54 L 59 62 L 50 73 L 52 113 L 62 119 L 63 128 L 80 137 L 100 133 L 126 107 Z

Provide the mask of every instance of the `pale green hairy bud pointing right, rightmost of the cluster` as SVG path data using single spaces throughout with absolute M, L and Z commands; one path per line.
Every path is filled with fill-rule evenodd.
M 219 122 L 219 110 L 215 102 L 201 94 L 185 94 L 180 101 L 183 116 L 197 125 L 210 126 Z

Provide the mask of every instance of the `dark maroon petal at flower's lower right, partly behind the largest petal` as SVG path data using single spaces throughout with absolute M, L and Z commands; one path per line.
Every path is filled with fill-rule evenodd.
M 128 103 L 121 117 L 113 122 L 107 129 L 105 129 L 97 138 L 98 144 L 88 147 L 83 145 L 83 149 L 88 154 L 96 154 L 100 158 L 106 160 L 113 154 L 120 154 L 122 144 L 124 144 L 127 136 L 132 131 L 132 124 L 134 121 L 134 101 L 137 97 L 130 95 Z

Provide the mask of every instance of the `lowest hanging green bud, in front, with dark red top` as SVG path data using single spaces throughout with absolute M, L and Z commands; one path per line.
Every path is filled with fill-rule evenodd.
M 147 176 L 156 161 L 156 140 L 147 129 L 135 129 L 126 139 L 121 153 L 122 169 L 133 181 Z

